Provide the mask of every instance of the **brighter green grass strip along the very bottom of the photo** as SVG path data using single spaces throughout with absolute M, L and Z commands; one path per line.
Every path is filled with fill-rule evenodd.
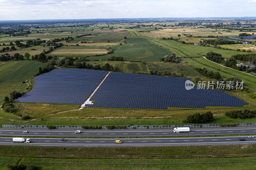
M 255 157 L 247 158 L 215 158 L 215 159 L 50 159 L 50 158 L 15 158 L 1 157 L 12 164 L 34 165 L 40 169 L 252 169 L 256 168 Z M 1 164 L 2 163 L 2 164 Z M 216 165 L 216 163 L 218 163 Z

